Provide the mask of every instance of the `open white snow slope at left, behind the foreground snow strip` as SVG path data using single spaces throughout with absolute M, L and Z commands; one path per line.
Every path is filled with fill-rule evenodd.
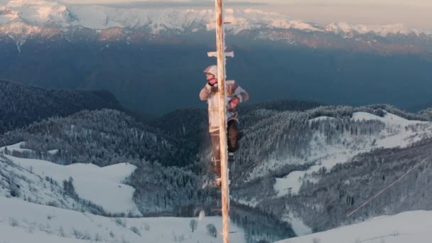
M 19 148 L 20 144 L 8 146 L 7 150 L 13 154 L 13 151 L 24 151 L 26 149 Z M 5 147 L 0 148 L 4 151 Z M 100 168 L 92 164 L 75 163 L 69 166 L 61 166 L 49 161 L 41 161 L 36 159 L 17 158 L 13 156 L 4 156 L 9 159 L 16 168 L 20 168 L 20 173 L 23 177 L 39 177 L 50 178 L 55 180 L 58 185 L 63 185 L 64 180 L 72 178 L 73 186 L 77 195 L 96 205 L 102 206 L 106 212 L 124 213 L 125 215 L 141 215 L 135 203 L 132 200 L 135 189 L 123 183 L 124 179 L 129 177 L 136 169 L 131 164 L 119 163 L 113 166 Z M 4 162 L 2 162 L 4 163 Z M 18 169 L 17 169 L 18 170 Z M 31 171 L 31 173 L 28 173 Z M 33 188 L 42 190 L 45 182 L 33 180 Z M 29 188 L 22 186 L 21 190 Z M 0 193 L 1 195 L 1 193 Z M 41 198 L 38 203 L 49 204 L 50 198 Z

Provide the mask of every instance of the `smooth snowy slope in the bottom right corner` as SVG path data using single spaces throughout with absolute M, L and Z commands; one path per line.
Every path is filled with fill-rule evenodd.
M 402 212 L 277 243 L 428 243 L 432 211 Z

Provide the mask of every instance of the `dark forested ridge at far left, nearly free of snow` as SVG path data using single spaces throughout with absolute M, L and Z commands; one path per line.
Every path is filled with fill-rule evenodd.
M 64 117 L 83 109 L 121 109 L 106 91 L 46 90 L 0 80 L 0 134 L 48 117 Z

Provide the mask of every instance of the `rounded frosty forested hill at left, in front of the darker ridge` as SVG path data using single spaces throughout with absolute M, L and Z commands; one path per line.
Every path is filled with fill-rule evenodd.
M 126 161 L 158 161 L 165 166 L 182 166 L 188 156 L 175 139 L 112 109 L 52 117 L 9 131 L 1 136 L 0 146 L 21 141 L 34 151 L 21 156 L 60 164 L 108 166 Z

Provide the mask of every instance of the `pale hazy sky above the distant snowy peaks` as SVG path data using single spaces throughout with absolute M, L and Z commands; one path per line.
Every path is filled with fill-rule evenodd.
M 126 4 L 127 0 L 62 0 L 73 4 Z M 212 0 L 134 0 L 151 6 L 212 6 Z M 170 4 L 175 3 L 175 4 Z M 254 9 L 276 11 L 303 21 L 328 24 L 332 22 L 394 24 L 432 31 L 432 0 L 228 0 L 233 6 L 248 4 Z M 261 4 L 257 4 L 261 3 Z M 265 3 L 265 4 L 264 4 Z M 257 4 L 251 6 L 251 4 Z

